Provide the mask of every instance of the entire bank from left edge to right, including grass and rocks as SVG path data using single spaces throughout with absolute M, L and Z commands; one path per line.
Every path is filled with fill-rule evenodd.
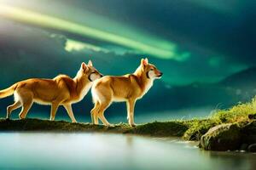
M 64 121 L 0 119 L 0 131 L 132 133 L 154 137 L 182 137 L 200 141 L 204 150 L 256 150 L 256 99 L 229 110 L 216 111 L 207 119 L 150 122 L 137 127 L 126 123 L 114 127 Z

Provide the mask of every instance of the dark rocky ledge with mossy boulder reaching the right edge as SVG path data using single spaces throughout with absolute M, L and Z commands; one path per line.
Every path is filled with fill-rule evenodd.
M 201 136 L 204 150 L 256 151 L 256 121 L 220 124 Z

